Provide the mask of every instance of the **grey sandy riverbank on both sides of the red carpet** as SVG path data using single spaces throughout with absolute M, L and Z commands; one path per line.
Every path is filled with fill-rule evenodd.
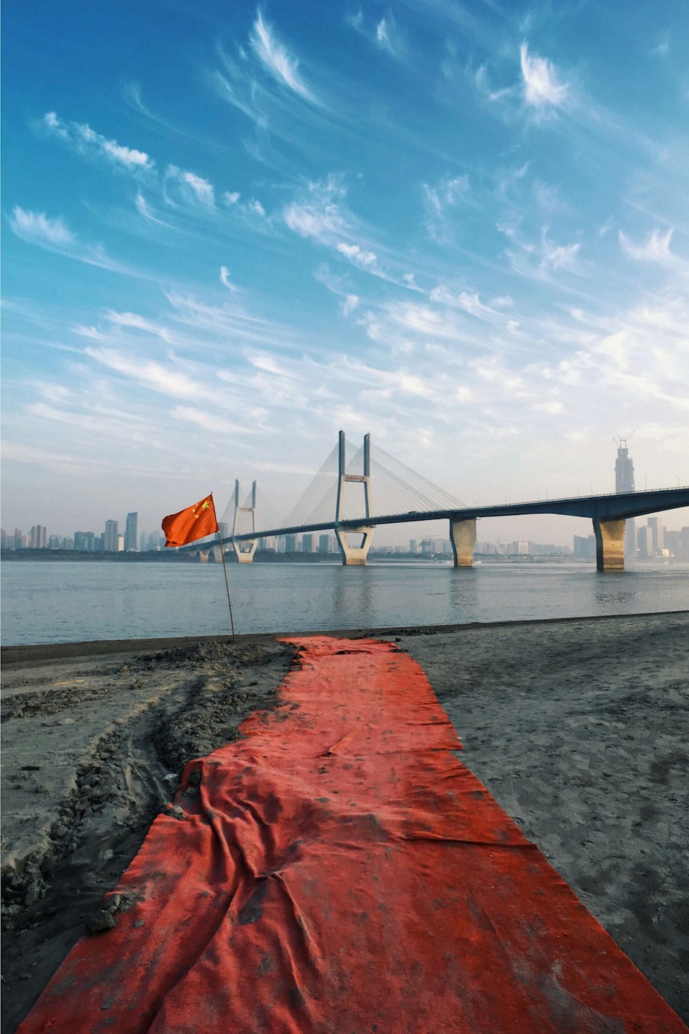
M 686 1022 L 689 613 L 386 638 L 424 667 L 463 762 Z M 13 1030 L 181 765 L 277 703 L 291 652 L 251 637 L 22 647 L 3 662 L 2 1011 Z

